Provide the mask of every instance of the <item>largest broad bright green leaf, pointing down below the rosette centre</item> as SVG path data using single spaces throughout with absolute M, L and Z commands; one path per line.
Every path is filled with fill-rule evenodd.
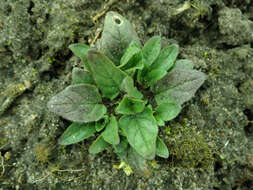
M 156 152 L 158 127 L 149 108 L 136 115 L 125 115 L 119 120 L 130 145 L 144 158 L 153 159 Z

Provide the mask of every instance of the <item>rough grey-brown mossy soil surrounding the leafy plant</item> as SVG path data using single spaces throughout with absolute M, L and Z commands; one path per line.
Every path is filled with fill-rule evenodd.
M 178 43 L 179 58 L 208 75 L 161 136 L 169 159 L 151 176 L 127 176 L 112 149 L 90 155 L 95 137 L 60 146 L 70 124 L 46 107 L 82 66 L 68 49 L 92 44 L 107 11 Z M 252 0 L 1 0 L 0 190 L 253 188 Z

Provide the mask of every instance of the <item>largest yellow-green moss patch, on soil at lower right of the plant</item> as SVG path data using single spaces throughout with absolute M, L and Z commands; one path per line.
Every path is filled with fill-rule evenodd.
M 203 136 L 186 125 L 173 125 L 167 145 L 171 167 L 208 168 L 213 164 L 213 151 Z

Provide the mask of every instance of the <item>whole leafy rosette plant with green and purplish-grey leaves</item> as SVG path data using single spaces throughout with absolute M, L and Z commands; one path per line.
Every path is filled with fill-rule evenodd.
M 145 173 L 146 160 L 168 158 L 159 127 L 177 117 L 205 74 L 189 60 L 176 60 L 178 45 L 161 49 L 160 36 L 142 47 L 130 23 L 115 12 L 106 15 L 98 50 L 79 43 L 69 48 L 84 69 L 74 68 L 72 84 L 48 102 L 52 112 L 73 122 L 59 143 L 98 133 L 89 153 L 112 146 L 121 160 Z

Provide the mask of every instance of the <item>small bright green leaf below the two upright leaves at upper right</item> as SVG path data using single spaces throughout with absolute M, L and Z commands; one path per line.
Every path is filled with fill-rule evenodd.
M 167 74 L 167 71 L 164 69 L 155 69 L 147 73 L 144 76 L 144 81 L 146 82 L 145 87 L 149 87 L 155 84 L 157 81 L 162 79 Z

